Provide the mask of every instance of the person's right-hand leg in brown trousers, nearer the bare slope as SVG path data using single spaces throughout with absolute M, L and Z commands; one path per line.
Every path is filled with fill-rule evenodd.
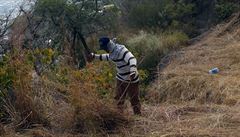
M 128 89 L 128 95 L 135 115 L 141 115 L 141 104 L 139 99 L 139 83 L 132 83 Z

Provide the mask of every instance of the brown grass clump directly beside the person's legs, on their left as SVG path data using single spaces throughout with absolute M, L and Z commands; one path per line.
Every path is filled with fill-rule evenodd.
M 93 68 L 88 66 L 91 75 L 95 75 Z M 83 71 L 85 74 L 88 71 Z M 120 114 L 113 100 L 107 102 L 100 99 L 99 87 L 95 83 L 97 76 L 80 78 L 74 73 L 69 85 L 70 101 L 75 108 L 75 131 L 82 134 L 105 136 L 118 132 L 119 128 L 128 123 L 128 118 Z

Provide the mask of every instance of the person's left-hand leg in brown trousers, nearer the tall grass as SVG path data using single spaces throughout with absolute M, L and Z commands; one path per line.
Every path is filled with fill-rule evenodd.
M 117 86 L 116 86 L 116 95 L 115 95 L 115 100 L 117 102 L 117 107 L 121 113 L 124 111 L 124 102 L 126 99 L 127 95 L 127 85 L 126 83 L 117 80 Z

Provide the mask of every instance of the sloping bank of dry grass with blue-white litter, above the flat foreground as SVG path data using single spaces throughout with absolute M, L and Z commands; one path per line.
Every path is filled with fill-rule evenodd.
M 238 23 L 230 21 L 234 24 L 221 25 L 195 45 L 176 52 L 174 59 L 159 73 L 158 80 L 150 89 L 149 98 L 171 103 L 190 100 L 228 105 L 238 103 L 240 21 L 239 18 L 233 20 Z M 232 28 L 226 29 L 225 26 Z M 219 36 L 226 30 L 225 35 Z M 220 73 L 208 74 L 208 70 L 214 67 L 218 67 Z

